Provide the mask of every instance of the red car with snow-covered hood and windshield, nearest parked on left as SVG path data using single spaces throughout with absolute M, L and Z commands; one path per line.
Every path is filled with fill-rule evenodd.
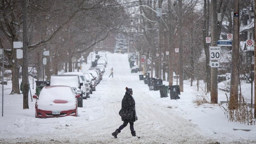
M 63 117 L 77 116 L 77 98 L 69 86 L 46 86 L 42 88 L 39 96 L 33 95 L 36 100 L 35 117 Z

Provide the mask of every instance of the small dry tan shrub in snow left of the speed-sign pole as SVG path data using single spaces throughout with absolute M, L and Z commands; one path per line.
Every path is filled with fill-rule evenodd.
M 204 104 L 204 103 L 210 103 L 209 95 L 204 91 L 204 88 L 199 86 L 199 90 L 197 91 L 197 88 L 192 88 L 194 90 L 193 95 L 195 96 L 195 99 L 192 100 L 193 103 L 196 103 L 197 106 Z

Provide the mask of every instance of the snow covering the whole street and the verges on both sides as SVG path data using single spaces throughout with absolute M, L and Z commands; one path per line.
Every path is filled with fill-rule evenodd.
M 131 74 L 127 54 L 108 53 L 107 57 L 103 80 L 90 98 L 83 100 L 78 117 L 35 118 L 35 99 L 23 110 L 23 95 L 9 95 L 11 83 L 4 85 L 0 143 L 256 143 L 255 126 L 228 122 L 218 105 L 192 103 L 195 91 L 189 81 L 184 81 L 181 99 L 160 98 L 159 91 L 149 91 L 139 81 L 138 73 Z M 109 78 L 112 67 L 114 77 Z M 83 71 L 86 68 L 89 63 Z M 123 123 L 118 112 L 125 87 L 133 89 L 138 116 L 134 129 L 140 139 L 132 137 L 129 124 L 117 139 L 111 135 Z M 2 85 L 0 88 L 2 95 Z M 219 100 L 225 100 L 225 92 L 219 91 Z

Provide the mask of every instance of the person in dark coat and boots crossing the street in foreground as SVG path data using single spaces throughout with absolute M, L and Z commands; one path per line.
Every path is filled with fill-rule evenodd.
M 124 123 L 112 133 L 112 136 L 114 136 L 114 138 L 117 138 L 117 135 L 121 133 L 121 130 L 126 127 L 128 123 L 130 123 L 130 130 L 132 136 L 136 136 L 133 128 L 133 122 L 138 119 L 135 110 L 135 101 L 132 97 L 132 89 L 127 87 L 125 89 L 126 92 L 122 100 L 122 109 L 119 111 L 119 115 L 121 116 Z

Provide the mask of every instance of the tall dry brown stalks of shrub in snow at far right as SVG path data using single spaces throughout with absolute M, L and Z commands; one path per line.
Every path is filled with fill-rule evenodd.
M 230 100 L 227 97 L 227 108 L 220 106 L 221 110 L 224 112 L 228 121 L 239 122 L 241 124 L 255 125 L 256 119 L 253 116 L 252 108 L 249 108 L 247 102 L 244 101 L 243 95 L 239 93 L 236 109 L 232 109 L 230 105 Z

